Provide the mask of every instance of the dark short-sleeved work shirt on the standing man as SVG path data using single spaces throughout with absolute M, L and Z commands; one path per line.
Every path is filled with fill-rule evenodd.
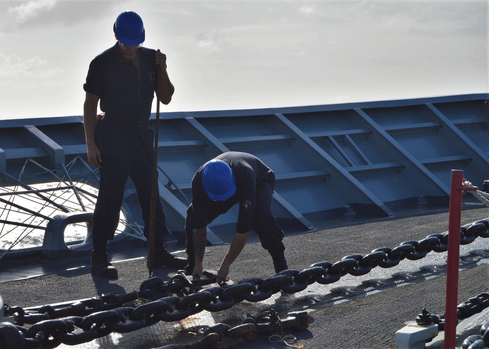
M 117 44 L 95 57 L 89 66 L 83 89 L 100 97 L 100 109 L 107 115 L 143 124 L 151 115 L 156 87 L 156 50 L 137 49 L 141 76 L 132 60 L 125 59 Z

